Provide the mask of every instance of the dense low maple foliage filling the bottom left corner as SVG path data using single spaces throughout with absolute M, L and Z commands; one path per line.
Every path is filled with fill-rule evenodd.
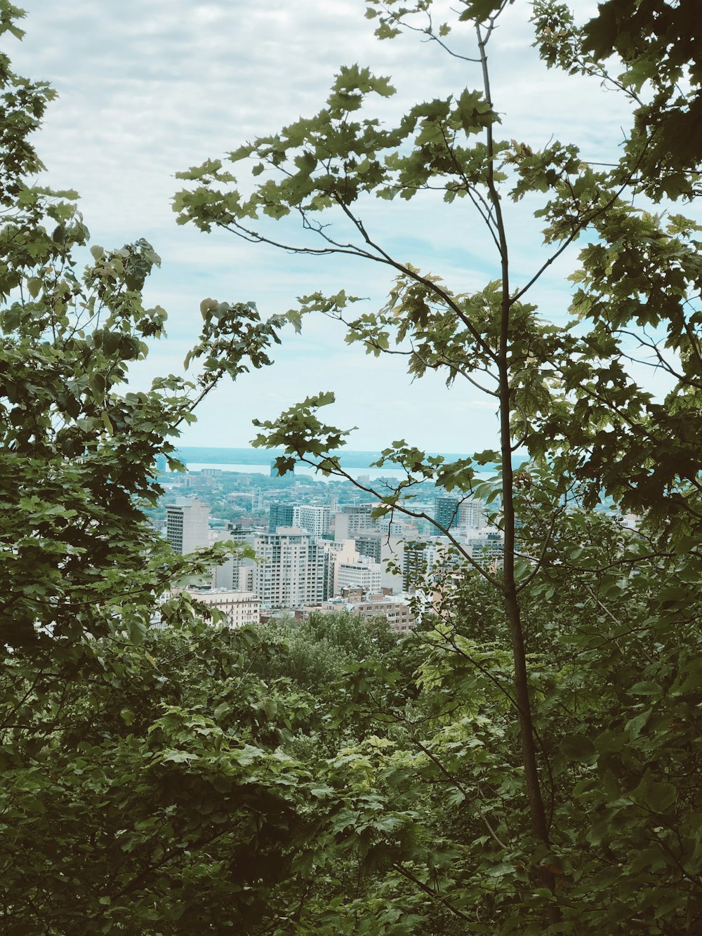
M 241 932 L 271 912 L 258 888 L 305 826 L 303 774 L 275 744 L 298 716 L 242 680 L 245 647 L 192 625 L 101 638 L 104 669 L 80 680 L 10 661 L 7 931 Z

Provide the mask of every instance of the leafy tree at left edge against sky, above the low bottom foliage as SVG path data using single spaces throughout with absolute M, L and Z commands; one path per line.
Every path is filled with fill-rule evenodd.
M 21 37 L 20 15 L 2 3 L 2 32 Z M 251 303 L 204 300 L 188 355 L 202 365 L 197 378 L 164 376 L 148 392 L 124 392 L 129 362 L 165 334 L 165 310 L 141 299 L 159 258 L 143 240 L 94 245 L 80 274 L 75 254 L 88 230 L 76 193 L 29 181 L 42 168 L 31 134 L 53 92 L 15 75 L 6 56 L 0 83 L 0 646 L 31 645 L 55 660 L 86 634 L 115 626 L 143 634 L 184 567 L 142 512 L 162 492 L 155 457 L 178 466 L 169 437 L 225 373 L 270 363 L 283 318 L 261 322 Z

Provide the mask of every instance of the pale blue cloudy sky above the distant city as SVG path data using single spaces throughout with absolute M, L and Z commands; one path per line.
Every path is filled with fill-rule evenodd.
M 145 298 L 168 311 L 168 339 L 154 345 L 133 388 L 156 374 L 183 373 L 206 297 L 253 300 L 264 316 L 285 312 L 315 290 L 368 297 L 369 311 L 383 304 L 392 278 L 379 264 L 291 256 L 226 231 L 177 226 L 170 202 L 183 183 L 175 173 L 313 115 L 339 66 L 358 63 L 391 77 L 397 95 L 375 105 L 388 123 L 417 101 L 477 87 L 477 66 L 412 35 L 379 42 L 363 0 L 24 0 L 22 6 L 26 36 L 22 43 L 7 40 L 7 52 L 18 73 L 50 81 L 59 94 L 35 140 L 47 167 L 42 182 L 79 191 L 94 243 L 109 248 L 143 237 L 162 258 Z M 448 4 L 435 4 L 442 6 Z M 578 0 L 579 15 L 594 7 Z M 597 80 L 549 72 L 532 48 L 530 8 L 517 0 L 490 41 L 501 135 L 534 149 L 550 139 L 575 142 L 583 158 L 612 161 L 630 120 L 626 104 Z M 450 40 L 456 51 L 473 51 L 468 31 Z M 516 285 L 548 256 L 535 207 L 533 199 L 507 206 Z M 360 214 L 389 253 L 441 275 L 454 291 L 499 275 L 494 248 L 463 202 L 378 200 L 364 203 Z M 566 277 L 576 260 L 577 248 L 534 289 L 544 317 L 563 320 Z M 402 358 L 366 356 L 345 345 L 340 325 L 323 317 L 308 316 L 300 335 L 286 331 L 273 357 L 270 368 L 217 388 L 181 444 L 246 446 L 256 434 L 253 417 L 276 417 L 320 390 L 337 396 L 326 421 L 358 426 L 350 448 L 378 449 L 399 438 L 432 451 L 495 444 L 491 398 L 468 384 L 447 389 L 434 374 L 412 383 Z

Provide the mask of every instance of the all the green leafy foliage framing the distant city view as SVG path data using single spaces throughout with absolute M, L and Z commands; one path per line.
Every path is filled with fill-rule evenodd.
M 676 128 L 694 120 L 684 80 L 696 87 L 698 70 L 687 39 L 670 42 L 678 7 L 608 3 L 579 27 L 536 4 L 547 64 L 610 81 L 634 118 L 613 167 L 558 141 L 535 153 L 495 136 L 486 46 L 506 6 L 465 2 L 435 23 L 431 0 L 371 0 L 381 38 L 417 29 L 455 53 L 473 28 L 482 88 L 386 127 L 361 114 L 389 81 L 345 67 L 314 118 L 231 154 L 254 159 L 250 194 L 221 161 L 183 173 L 179 220 L 268 241 L 260 216 L 297 215 L 321 238 L 311 252 L 384 263 L 394 281 L 384 308 L 348 317 L 358 299 L 344 290 L 268 322 L 251 303 L 203 300 L 197 377 L 142 393 L 123 385 L 163 334 L 164 310 L 141 300 L 157 256 L 145 241 L 94 246 L 79 275 L 74 195 L 27 183 L 51 90 L 0 60 L 8 932 L 700 928 L 697 227 L 638 200 L 695 194 L 695 133 Z M 0 0 L 4 32 L 19 35 L 18 17 Z M 612 50 L 624 72 L 610 79 Z M 494 244 L 495 275 L 474 292 L 400 262 L 360 221 L 366 197 L 434 189 L 446 212 L 472 204 Z M 516 284 L 502 210 L 527 195 L 542 198 L 551 253 Z M 335 240 L 322 214 L 356 240 Z M 557 326 L 527 294 L 579 237 L 572 321 Z M 443 531 L 453 584 L 408 638 L 346 615 L 232 632 L 186 596 L 162 600 L 221 550 L 175 557 L 154 537 L 142 511 L 159 494 L 156 454 L 172 463 L 168 439 L 216 381 L 267 365 L 285 321 L 320 313 L 369 353 L 400 351 L 413 376 L 468 380 L 499 407 L 495 451 L 446 462 L 397 440 L 383 453 L 405 477 L 379 492 L 379 514 L 412 516 L 432 479 L 483 497 L 505 535 L 504 562 L 485 569 Z M 629 373 L 642 351 L 670 378 L 662 401 Z M 317 417 L 331 399 L 260 424 L 259 444 L 285 448 L 281 469 L 344 475 L 347 433 Z M 519 446 L 532 461 L 515 471 Z M 479 480 L 492 461 L 497 479 Z

